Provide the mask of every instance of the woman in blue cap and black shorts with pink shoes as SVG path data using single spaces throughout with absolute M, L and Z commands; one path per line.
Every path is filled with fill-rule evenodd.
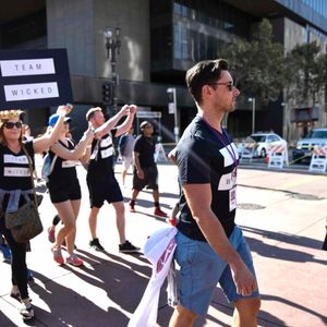
M 49 119 L 49 125 L 53 126 L 57 120 L 58 116 L 52 114 Z M 53 259 L 60 265 L 64 263 L 61 245 L 65 241 L 65 249 L 69 254 L 65 262 L 74 266 L 81 266 L 83 261 L 74 253 L 76 219 L 82 197 L 75 166 L 78 164 L 77 160 L 83 161 L 86 147 L 93 141 L 93 131 L 89 126 L 76 145 L 71 137 L 66 137 L 70 132 L 70 121 L 71 119 L 66 117 L 59 140 L 50 147 L 51 162 L 52 160 L 56 161 L 48 177 L 47 186 L 50 199 L 62 221 L 62 227 L 57 233 L 55 246 L 52 247 Z

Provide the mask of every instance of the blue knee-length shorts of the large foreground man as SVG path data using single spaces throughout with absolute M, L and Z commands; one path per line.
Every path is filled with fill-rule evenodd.
M 174 257 L 181 267 L 178 293 L 183 307 L 197 315 L 206 314 L 218 282 L 229 302 L 258 296 L 258 291 L 250 296 L 237 293 L 229 266 L 207 242 L 191 240 L 181 232 L 175 235 L 175 241 L 178 245 Z M 230 235 L 230 242 L 255 276 L 250 247 L 237 226 Z

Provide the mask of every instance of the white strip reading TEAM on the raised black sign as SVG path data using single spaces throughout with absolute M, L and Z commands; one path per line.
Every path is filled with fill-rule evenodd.
M 52 58 L 48 59 L 25 59 L 25 60 L 1 60 L 1 74 L 7 76 L 26 76 L 55 74 Z

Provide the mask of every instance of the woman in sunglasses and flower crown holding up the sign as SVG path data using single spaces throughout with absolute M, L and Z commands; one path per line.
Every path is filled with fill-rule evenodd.
M 4 235 L 11 253 L 12 290 L 11 295 L 20 299 L 23 319 L 34 317 L 27 290 L 26 250 L 28 243 L 17 243 L 9 229 L 5 228 L 4 214 L 17 210 L 26 201 L 33 201 L 33 184 L 28 159 L 35 166 L 35 154 L 48 149 L 59 137 L 65 114 L 70 107 L 60 106 L 57 110 L 58 122 L 51 133 L 40 137 L 23 141 L 21 110 L 0 111 L 0 233 Z M 34 168 L 34 167 L 33 167 Z

